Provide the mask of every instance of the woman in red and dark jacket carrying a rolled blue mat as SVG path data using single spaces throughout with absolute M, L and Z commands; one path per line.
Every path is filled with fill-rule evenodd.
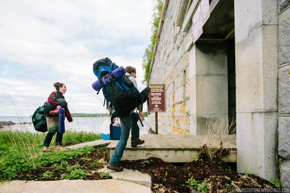
M 64 99 L 64 96 L 63 96 L 63 94 L 66 93 L 66 85 L 63 83 L 56 82 L 53 84 L 53 86 L 56 88 L 56 91 L 53 91 L 50 94 L 50 96 L 48 97 L 48 101 L 44 103 L 44 109 L 43 109 L 44 113 L 47 115 L 47 126 L 50 125 L 51 122 L 56 123 L 56 121 L 57 121 L 56 124 L 58 124 L 58 109 L 59 108 L 64 108 L 66 119 L 68 120 L 68 122 L 72 122 L 72 116 L 70 115 L 69 109 L 67 108 L 66 100 Z M 49 144 L 55 133 L 56 133 L 55 145 L 58 146 L 59 149 L 61 148 L 63 134 L 61 134 L 57 130 L 55 132 L 48 131 L 44 139 L 44 142 L 42 144 L 43 146 L 42 152 L 48 151 Z

